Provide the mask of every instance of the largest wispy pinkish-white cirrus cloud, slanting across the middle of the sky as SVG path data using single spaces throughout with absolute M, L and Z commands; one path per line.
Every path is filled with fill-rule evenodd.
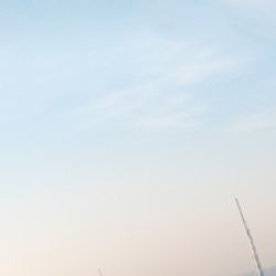
M 153 50 L 148 51 L 150 56 Z M 195 100 L 194 88 L 202 89 L 204 83 L 230 77 L 241 67 L 241 60 L 220 55 L 208 47 L 188 51 L 184 56 L 183 52 L 178 47 L 170 53 L 172 62 L 158 73 L 149 70 L 139 82 L 98 93 L 75 108 L 71 113 L 76 121 L 74 130 L 108 125 L 157 130 L 200 126 L 211 107 L 204 100 Z M 141 64 L 145 68 L 150 65 Z

